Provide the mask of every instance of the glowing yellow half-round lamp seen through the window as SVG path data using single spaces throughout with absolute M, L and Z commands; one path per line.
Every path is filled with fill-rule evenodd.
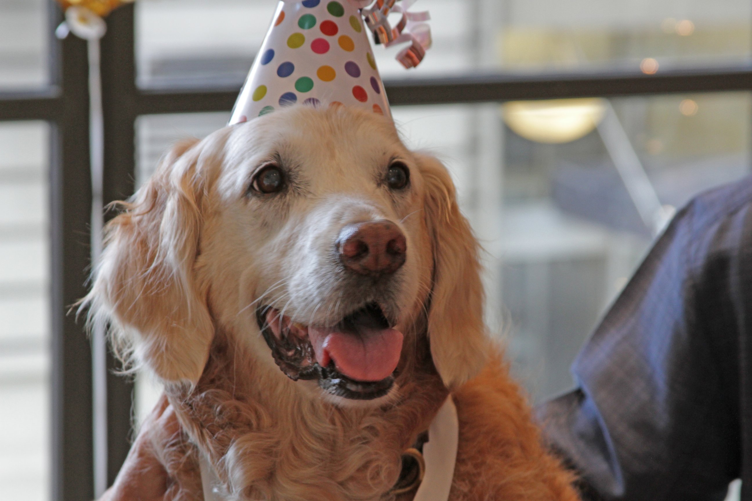
M 605 115 L 601 98 L 511 101 L 502 116 L 514 132 L 538 143 L 569 143 L 590 134 Z

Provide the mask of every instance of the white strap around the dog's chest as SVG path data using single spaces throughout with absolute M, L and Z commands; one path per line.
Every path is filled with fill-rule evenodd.
M 414 501 L 447 501 L 454 477 L 459 442 L 457 408 L 447 397 L 428 429 L 429 440 L 423 445 L 426 473 L 415 493 Z M 204 501 L 224 501 L 223 487 L 208 457 L 199 451 Z

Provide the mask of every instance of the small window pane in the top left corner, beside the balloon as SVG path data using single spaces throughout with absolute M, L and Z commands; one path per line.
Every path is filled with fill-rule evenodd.
M 0 91 L 47 84 L 47 5 L 45 0 L 0 0 Z

